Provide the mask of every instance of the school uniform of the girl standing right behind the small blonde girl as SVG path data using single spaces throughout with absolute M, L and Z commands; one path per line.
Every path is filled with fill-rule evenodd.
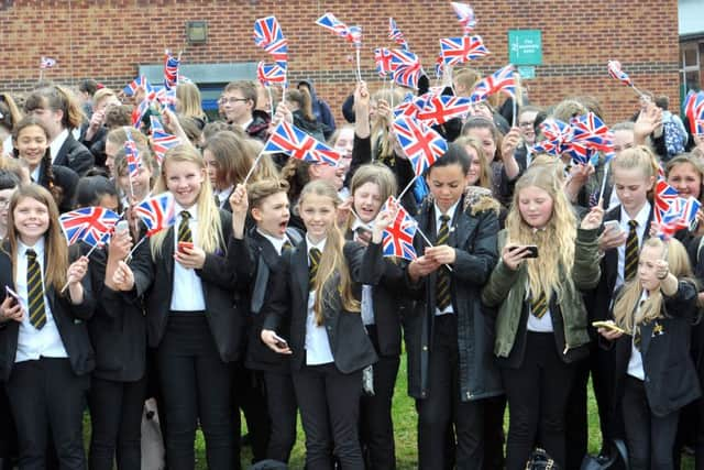
M 604 215 L 604 222 L 616 220 L 620 230 L 628 233 L 630 218 L 618 205 Z M 652 221 L 652 206 L 650 203 L 641 208 L 636 216 L 638 227 L 638 247 L 640 247 L 650 233 Z M 587 309 L 588 321 L 587 331 L 593 342 L 590 346 L 590 357 L 578 364 L 574 385 L 569 398 L 568 406 L 568 468 L 579 468 L 582 458 L 587 450 L 587 393 L 590 372 L 592 374 L 592 386 L 596 398 L 600 427 L 602 434 L 601 453 L 608 456 L 615 452 L 613 440 L 623 438 L 623 422 L 620 413 L 613 409 L 614 400 L 614 352 L 598 347 L 600 335 L 596 328 L 592 327 L 593 321 L 607 320 L 608 311 L 612 307 L 614 293 L 624 284 L 626 264 L 625 244 L 616 249 L 607 250 L 601 259 L 601 272 L 598 285 L 595 289 L 584 295 Z

